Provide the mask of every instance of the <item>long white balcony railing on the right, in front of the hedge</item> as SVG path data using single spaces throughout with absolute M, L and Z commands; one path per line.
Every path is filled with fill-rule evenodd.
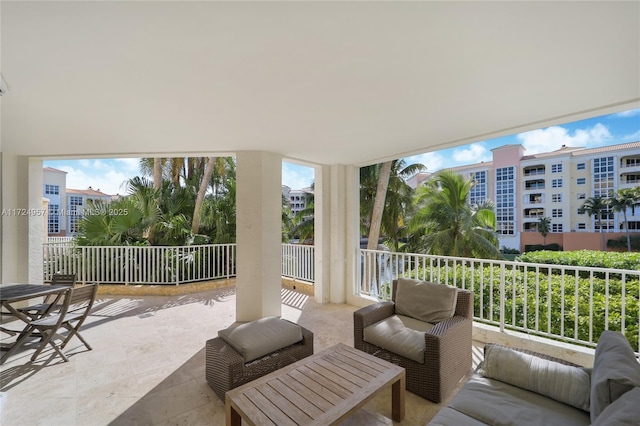
M 640 352 L 640 271 L 360 250 L 356 292 L 389 298 L 412 277 L 472 290 L 474 320 L 567 343 L 595 346 L 603 330 Z

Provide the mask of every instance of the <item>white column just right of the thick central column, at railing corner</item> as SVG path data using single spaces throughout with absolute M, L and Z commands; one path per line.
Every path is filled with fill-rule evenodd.
M 315 299 L 345 303 L 353 294 L 359 262 L 359 170 L 332 165 L 316 169 Z

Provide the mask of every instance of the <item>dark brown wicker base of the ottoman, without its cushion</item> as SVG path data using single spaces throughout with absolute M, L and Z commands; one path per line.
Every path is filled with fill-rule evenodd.
M 302 340 L 245 363 L 243 356 L 222 338 L 208 340 L 205 346 L 205 376 L 222 401 L 233 388 L 262 377 L 313 354 L 313 333 L 304 327 Z

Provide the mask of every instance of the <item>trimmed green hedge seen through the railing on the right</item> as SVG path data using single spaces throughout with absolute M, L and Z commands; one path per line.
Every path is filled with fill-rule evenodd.
M 470 288 L 472 272 L 469 268 L 465 267 L 463 272 L 462 267 L 456 265 L 455 269 L 456 282 L 453 280 L 453 267 L 449 266 L 448 274 L 444 267 L 439 271 L 443 278 L 448 277 L 445 283 L 460 288 L 462 287 L 462 277 L 464 275 L 465 287 Z M 487 266 L 482 269 L 475 269 L 473 274 L 474 315 L 490 321 L 500 321 L 500 267 Z M 536 276 L 534 271 L 527 270 L 525 273 L 524 267 L 516 268 L 515 271 L 509 268 L 505 275 L 504 318 L 507 327 L 511 325 L 512 328 L 516 329 L 535 330 L 537 314 L 537 330 L 569 339 L 575 337 L 575 275 L 552 274 L 549 280 L 549 275 L 543 273 L 543 271 L 539 276 Z M 411 271 L 407 276 L 414 277 L 415 271 Z M 418 270 L 417 276 L 422 277 L 421 270 Z M 438 276 L 437 267 L 434 268 L 434 276 Z M 536 278 L 540 283 L 538 292 L 536 292 Z M 484 286 L 480 288 L 482 281 Z M 597 342 L 600 334 L 605 329 L 620 331 L 622 329 L 622 282 L 610 279 L 607 288 L 606 280 L 594 278 L 593 287 L 591 287 L 591 279 L 578 277 L 577 285 L 577 338 L 585 342 L 591 340 L 589 335 L 590 321 L 593 325 L 591 336 L 594 342 Z M 638 280 L 627 280 L 625 286 L 626 296 L 624 298 L 625 336 L 631 342 L 634 350 L 638 348 L 639 289 L 640 283 Z M 564 303 L 562 303 L 563 294 Z M 605 303 L 606 294 L 608 294 L 609 300 L 608 312 Z M 515 304 L 513 303 L 514 299 Z M 491 305 L 493 305 L 493 309 L 490 309 Z M 526 315 L 525 306 L 527 307 Z M 593 306 L 592 311 L 590 311 L 591 306 Z M 605 316 L 607 316 L 606 323 Z

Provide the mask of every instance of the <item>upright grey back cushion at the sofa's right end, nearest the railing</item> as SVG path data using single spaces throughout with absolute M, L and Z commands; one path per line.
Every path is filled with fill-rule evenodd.
M 600 335 L 591 376 L 591 421 L 609 404 L 635 386 L 640 386 L 640 364 L 626 337 L 616 331 Z

